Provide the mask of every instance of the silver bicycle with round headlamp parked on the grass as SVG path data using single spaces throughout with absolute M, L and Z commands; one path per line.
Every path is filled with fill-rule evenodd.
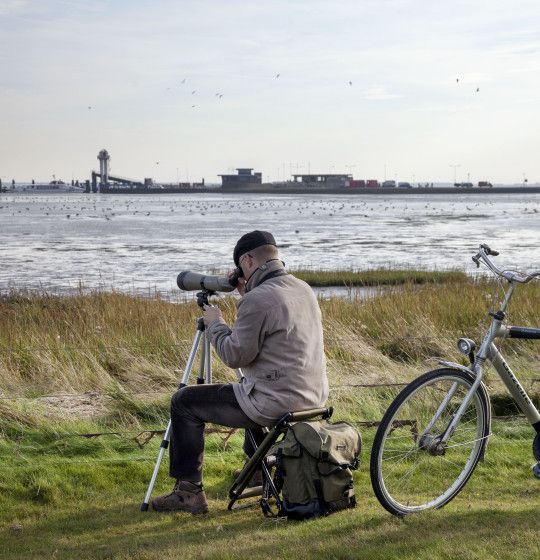
M 429 371 L 407 385 L 394 399 L 377 429 L 370 459 L 371 483 L 381 505 L 390 513 L 408 514 L 438 509 L 455 498 L 483 459 L 491 434 L 489 396 L 482 368 L 489 360 L 518 407 L 536 431 L 533 473 L 540 478 L 540 412 L 493 343 L 496 338 L 540 339 L 540 329 L 504 325 L 506 310 L 518 284 L 540 276 L 500 270 L 490 256 L 497 251 L 480 245 L 473 257 L 509 286 L 500 309 L 490 312 L 491 324 L 476 351 L 468 338 L 458 340 L 470 367 L 439 360 L 442 368 Z M 404 433 L 406 427 L 408 433 Z

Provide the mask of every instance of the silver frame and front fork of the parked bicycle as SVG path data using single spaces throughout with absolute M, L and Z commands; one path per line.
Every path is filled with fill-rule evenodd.
M 446 367 L 450 367 L 453 369 L 461 369 L 471 373 L 475 380 L 465 396 L 463 402 L 461 403 L 460 407 L 456 411 L 454 417 L 448 424 L 445 432 L 440 437 L 441 443 L 446 443 L 452 434 L 454 433 L 456 426 L 458 425 L 459 421 L 463 413 L 465 412 L 467 406 L 469 405 L 471 399 L 474 397 L 474 394 L 480 383 L 482 383 L 482 366 L 486 360 L 489 360 L 497 373 L 499 374 L 500 378 L 510 391 L 510 394 L 514 397 L 519 409 L 523 412 L 527 420 L 536 430 L 536 432 L 540 433 L 540 412 L 534 406 L 534 403 L 530 399 L 529 395 L 518 381 L 514 372 L 504 360 L 503 356 L 499 352 L 498 348 L 495 346 L 493 341 L 496 338 L 526 338 L 526 339 L 540 339 L 540 329 L 533 329 L 533 328 L 526 328 L 526 327 L 508 327 L 504 326 L 502 323 L 506 317 L 506 309 L 508 308 L 508 304 L 512 298 L 516 287 L 516 281 L 513 279 L 509 279 L 510 287 L 505 295 L 504 301 L 501 305 L 501 308 L 496 313 L 491 313 L 490 315 L 493 317 L 491 321 L 491 325 L 488 329 L 486 336 L 484 337 L 482 344 L 476 354 L 474 363 L 470 368 L 465 367 L 461 364 L 456 364 L 454 362 L 446 362 L 440 361 L 440 363 Z M 453 397 L 455 392 L 457 391 L 458 384 L 455 383 L 451 388 L 446 397 L 443 399 L 443 402 L 435 412 L 431 422 L 428 424 L 426 429 L 424 430 L 424 435 L 427 434 L 431 428 L 435 425 L 441 414 L 443 413 L 446 405 Z

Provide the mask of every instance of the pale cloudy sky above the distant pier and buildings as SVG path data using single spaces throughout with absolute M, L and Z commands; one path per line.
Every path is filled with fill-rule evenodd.
M 534 182 L 540 2 L 0 0 L 0 101 L 9 181 Z

